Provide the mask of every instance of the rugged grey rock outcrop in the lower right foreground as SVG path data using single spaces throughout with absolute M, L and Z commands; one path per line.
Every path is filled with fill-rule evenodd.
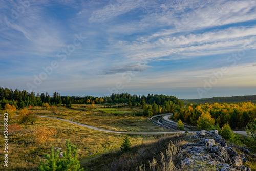
M 225 139 L 219 136 L 217 130 L 197 131 L 194 143 L 187 143 L 182 147 L 181 154 L 185 159 L 179 167 L 191 170 L 202 168 L 212 168 L 213 170 L 251 170 L 242 166 L 247 159 L 240 156 L 232 147 L 228 147 Z M 244 153 L 249 153 L 248 149 L 243 149 Z

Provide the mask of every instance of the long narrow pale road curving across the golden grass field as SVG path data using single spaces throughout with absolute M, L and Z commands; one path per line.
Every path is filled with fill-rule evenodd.
M 56 118 L 56 117 L 51 117 L 51 116 L 39 116 L 39 117 L 58 119 L 58 120 L 62 120 L 62 121 L 65 121 L 65 122 L 70 122 L 70 123 L 73 123 L 73 124 L 76 124 L 76 125 L 80 125 L 80 126 L 83 126 L 83 127 L 87 127 L 89 129 L 93 129 L 93 130 L 97 130 L 97 131 L 102 131 L 102 132 L 108 132 L 108 133 L 118 133 L 118 134 L 177 134 L 177 133 L 185 133 L 185 131 L 169 131 L 169 132 L 123 132 L 123 131 L 112 131 L 112 130 L 100 129 L 98 127 L 89 126 L 89 125 L 78 123 L 78 122 L 74 122 L 74 121 L 71 121 L 71 120 L 66 120 L 66 119 L 61 119 L 61 118 Z M 189 130 L 188 133 L 196 133 L 196 131 Z M 247 136 L 245 131 L 234 131 L 234 133 L 238 133 L 238 134 L 242 134 L 242 135 Z

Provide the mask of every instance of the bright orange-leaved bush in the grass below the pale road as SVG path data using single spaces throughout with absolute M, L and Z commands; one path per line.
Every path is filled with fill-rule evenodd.
M 48 147 L 49 142 L 53 141 L 53 136 L 57 133 L 55 129 L 47 128 L 46 126 L 38 126 L 35 133 L 36 143 L 45 143 Z

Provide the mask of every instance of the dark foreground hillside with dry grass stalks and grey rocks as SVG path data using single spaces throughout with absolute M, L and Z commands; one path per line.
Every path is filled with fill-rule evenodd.
M 163 136 L 84 161 L 86 170 L 255 170 L 255 158 L 246 147 L 233 145 L 217 130 Z

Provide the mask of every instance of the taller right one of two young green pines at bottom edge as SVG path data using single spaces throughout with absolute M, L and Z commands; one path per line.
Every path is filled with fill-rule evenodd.
M 63 158 L 61 158 L 62 170 L 82 171 L 83 168 L 80 169 L 80 163 L 77 160 L 76 146 L 66 140 L 66 147 L 67 151 L 63 152 Z

